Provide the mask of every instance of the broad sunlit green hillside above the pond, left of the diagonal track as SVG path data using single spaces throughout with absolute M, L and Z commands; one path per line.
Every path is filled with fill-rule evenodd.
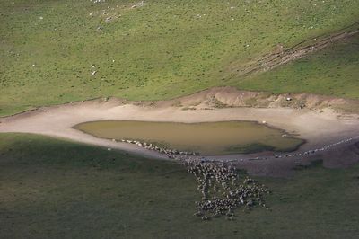
M 302 72 L 290 74 L 290 86 L 274 81 L 276 75 L 263 85 L 223 75 L 233 62 L 241 66 L 278 44 L 290 48 L 359 17 L 356 0 L 153 0 L 136 8 L 132 3 L 0 0 L 0 115 L 109 95 L 168 99 L 223 84 L 291 91 Z M 344 54 L 336 59 L 343 60 Z M 357 66 L 357 59 L 351 64 Z M 331 84 L 328 80 L 320 82 Z M 332 85 L 320 93 L 343 95 L 357 87 L 346 75 Z M 302 89 L 317 93 L 311 84 Z

